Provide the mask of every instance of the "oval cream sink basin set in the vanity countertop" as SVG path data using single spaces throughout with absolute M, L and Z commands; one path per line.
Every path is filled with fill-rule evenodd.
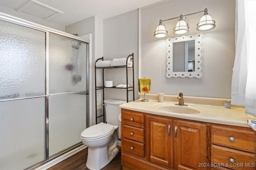
M 183 114 L 199 114 L 198 109 L 191 108 L 189 106 L 178 106 L 178 105 L 160 105 L 156 106 L 159 111 L 166 111 L 172 113 L 183 113 Z

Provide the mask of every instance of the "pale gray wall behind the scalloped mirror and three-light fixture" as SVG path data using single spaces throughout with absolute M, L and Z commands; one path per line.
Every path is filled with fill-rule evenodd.
M 156 39 L 153 33 L 159 20 L 166 20 L 208 8 L 216 21 L 216 28 L 201 32 L 202 78 L 166 78 L 166 38 Z M 196 31 L 196 24 L 202 14 L 187 17 L 189 34 Z M 140 77 L 152 79 L 151 93 L 165 93 L 210 98 L 231 98 L 232 68 L 235 57 L 234 23 L 235 0 L 172 0 L 143 8 L 141 10 L 141 65 Z M 163 22 L 168 37 L 177 20 Z

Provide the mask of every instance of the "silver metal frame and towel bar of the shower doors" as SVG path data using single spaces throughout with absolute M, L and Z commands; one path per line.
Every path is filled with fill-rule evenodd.
M 46 63 L 45 63 L 45 67 L 46 67 L 46 74 L 45 74 L 45 83 L 46 83 L 46 95 L 43 96 L 35 96 L 35 97 L 28 97 L 28 98 L 17 98 L 17 99 L 7 99 L 7 100 L 1 100 L 0 102 L 4 102 L 4 101 L 11 101 L 11 100 L 22 100 L 22 99 L 29 99 L 29 98 L 42 98 L 45 97 L 46 99 L 46 117 L 45 117 L 45 126 L 46 126 L 46 131 L 45 131 L 45 135 L 46 135 L 46 141 L 45 141 L 45 146 L 46 146 L 46 158 L 44 160 L 42 160 L 41 162 L 38 162 L 37 164 L 34 164 L 33 166 L 30 166 L 27 169 L 31 169 L 31 168 L 36 168 L 39 167 L 42 164 L 45 164 L 47 162 L 49 162 L 50 160 L 53 160 L 54 158 L 80 146 L 83 145 L 82 142 L 77 143 L 65 150 L 62 150 L 52 156 L 49 157 L 49 34 L 52 35 L 56 35 L 59 37 L 64 37 L 66 39 L 70 39 L 70 40 L 74 40 L 74 41 L 78 41 L 81 43 L 86 44 L 86 128 L 89 126 L 89 80 L 90 80 L 90 59 L 89 59 L 89 44 L 90 42 L 87 41 L 86 39 L 77 37 L 76 35 L 71 35 L 69 33 L 65 33 L 62 31 L 58 31 L 56 29 L 51 29 L 49 27 L 40 25 L 40 24 L 36 24 L 30 21 L 26 21 L 20 18 L 16 18 L 14 16 L 10 16 L 8 14 L 4 14 L 2 12 L 0 12 L 0 20 L 2 21 L 6 21 L 9 23 L 14 23 L 16 25 L 21 25 L 24 27 L 28 27 L 31 29 L 36 29 L 38 31 L 42 31 L 46 33 L 46 39 L 45 39 L 45 44 L 46 44 Z

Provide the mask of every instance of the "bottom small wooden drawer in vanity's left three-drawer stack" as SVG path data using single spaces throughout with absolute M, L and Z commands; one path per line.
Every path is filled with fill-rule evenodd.
M 131 141 L 129 139 L 122 140 L 122 152 L 130 153 L 135 156 L 144 157 L 144 143 Z

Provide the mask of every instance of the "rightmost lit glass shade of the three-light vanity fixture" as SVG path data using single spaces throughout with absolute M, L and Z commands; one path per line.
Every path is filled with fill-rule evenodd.
M 208 31 L 216 27 L 215 21 L 212 20 L 212 17 L 208 14 L 203 15 L 196 26 L 197 31 Z

